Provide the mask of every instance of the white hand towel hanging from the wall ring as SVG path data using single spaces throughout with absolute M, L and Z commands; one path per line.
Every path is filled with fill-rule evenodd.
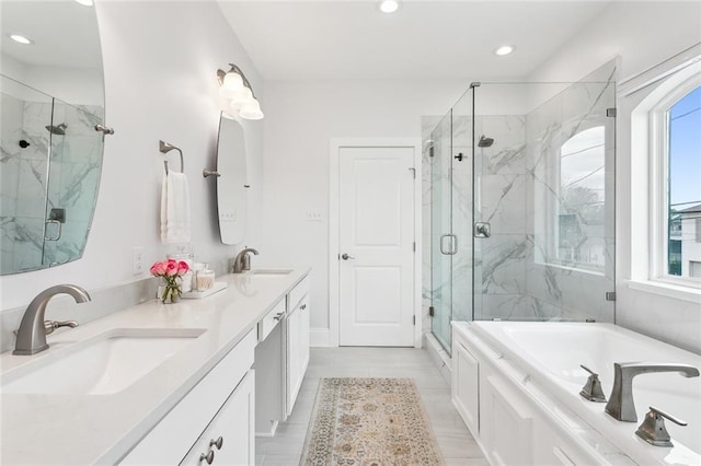
M 161 190 L 161 242 L 189 242 L 189 190 L 183 173 L 163 176 Z

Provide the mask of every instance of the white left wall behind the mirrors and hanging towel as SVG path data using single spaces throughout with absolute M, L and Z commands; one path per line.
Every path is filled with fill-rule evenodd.
M 164 258 L 159 238 L 163 176 L 158 141 L 180 147 L 185 158 L 196 258 L 226 261 L 242 245 L 225 246 L 216 220 L 215 182 L 202 170 L 215 166 L 219 121 L 217 68 L 238 63 L 263 109 L 267 100 L 251 60 L 219 7 L 198 2 L 97 2 L 106 86 L 102 182 L 83 258 L 48 270 L 0 278 L 1 308 L 24 305 L 43 289 L 64 282 L 88 290 L 148 276 Z M 249 151 L 250 211 L 246 241 L 258 235 L 262 202 L 261 121 L 243 123 Z M 177 156 L 177 155 L 172 155 Z M 177 166 L 179 163 L 171 163 Z M 253 241 L 251 240 L 251 243 Z M 131 272 L 133 248 L 145 251 L 147 273 Z

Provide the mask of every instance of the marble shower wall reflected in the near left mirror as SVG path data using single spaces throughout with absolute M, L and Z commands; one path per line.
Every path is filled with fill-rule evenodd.
M 103 110 L 43 95 L 19 98 L 3 93 L 0 98 L 0 272 L 78 258 L 100 183 L 102 136 L 93 128 L 102 121 Z M 60 124 L 66 125 L 65 135 L 46 129 Z M 54 208 L 65 210 L 60 237 L 44 241 L 45 235 L 59 236 L 56 223 L 47 224 L 45 232 L 45 220 Z

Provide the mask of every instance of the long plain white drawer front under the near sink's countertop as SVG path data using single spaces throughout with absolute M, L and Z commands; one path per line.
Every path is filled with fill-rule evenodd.
M 120 464 L 175 465 L 253 365 L 254 330 L 241 341 L 137 444 Z

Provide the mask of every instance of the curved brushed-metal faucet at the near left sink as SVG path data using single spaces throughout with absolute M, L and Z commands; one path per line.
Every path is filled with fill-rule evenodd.
M 48 343 L 46 342 L 47 328 L 44 323 L 44 314 L 46 313 L 46 305 L 49 300 L 56 294 L 61 293 L 70 294 L 77 303 L 90 301 L 90 294 L 88 294 L 88 292 L 82 288 L 74 284 L 57 284 L 42 291 L 36 295 L 36 298 L 34 298 L 34 300 L 32 300 L 24 312 L 20 329 L 18 330 L 18 341 L 12 354 L 35 354 L 48 348 Z M 73 327 L 72 322 L 58 324 L 65 324 L 65 326 Z

